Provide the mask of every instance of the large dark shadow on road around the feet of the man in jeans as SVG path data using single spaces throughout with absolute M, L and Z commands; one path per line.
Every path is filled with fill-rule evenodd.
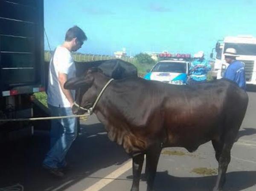
M 81 125 L 69 153 L 67 162 L 72 170 L 63 179 L 57 179 L 41 168 L 49 149 L 47 131 L 34 137 L 0 148 L 0 188 L 20 183 L 24 191 L 62 191 L 94 172 L 128 160 L 123 148 L 108 139 L 102 124 Z

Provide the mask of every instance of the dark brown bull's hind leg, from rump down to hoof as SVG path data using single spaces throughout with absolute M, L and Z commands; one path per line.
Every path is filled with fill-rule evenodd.
M 222 190 L 224 186 L 227 167 L 231 159 L 230 151 L 237 139 L 248 105 L 248 95 L 245 91 L 236 86 L 231 86 L 230 88 L 227 90 L 228 94 L 224 105 L 225 120 L 221 139 L 212 141 L 215 157 L 219 163 L 214 191 Z

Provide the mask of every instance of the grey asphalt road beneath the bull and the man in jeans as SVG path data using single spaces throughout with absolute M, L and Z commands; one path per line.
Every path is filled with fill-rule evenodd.
M 256 190 L 256 93 L 248 92 L 249 106 L 232 149 L 224 191 Z M 67 161 L 73 168 L 63 179 L 41 168 L 49 147 L 48 132 L 0 148 L 0 188 L 20 183 L 24 191 L 129 191 L 131 160 L 123 149 L 108 140 L 102 124 L 91 116 L 81 121 L 81 132 L 71 147 Z M 210 191 L 218 163 L 210 143 L 194 153 L 183 148 L 166 148 L 161 154 L 155 191 Z M 1 189 L 0 189 L 1 190 Z M 146 190 L 145 181 L 140 190 Z

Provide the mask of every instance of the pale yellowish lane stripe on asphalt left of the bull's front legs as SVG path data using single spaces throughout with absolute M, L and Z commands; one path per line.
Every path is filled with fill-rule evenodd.
M 124 174 L 126 171 L 130 170 L 132 168 L 132 160 L 129 160 L 126 162 L 124 165 L 121 167 L 117 168 L 115 171 L 111 172 L 108 176 L 102 178 L 102 180 L 99 180 L 96 182 L 94 185 L 90 186 L 84 191 L 99 191 L 112 181 L 114 181 L 117 177 L 121 176 Z

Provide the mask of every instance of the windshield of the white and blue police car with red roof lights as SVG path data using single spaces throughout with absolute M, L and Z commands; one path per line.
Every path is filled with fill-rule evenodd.
M 186 63 L 163 62 L 157 63 L 152 72 L 186 73 Z

